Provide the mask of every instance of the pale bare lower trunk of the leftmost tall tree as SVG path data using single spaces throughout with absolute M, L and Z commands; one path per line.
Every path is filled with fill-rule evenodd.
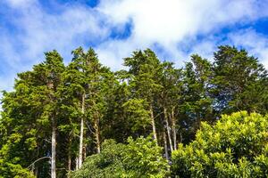
M 56 157 L 56 125 L 54 117 L 52 117 L 52 134 L 51 134 L 51 178 L 56 178 L 56 167 L 55 167 L 55 157 Z

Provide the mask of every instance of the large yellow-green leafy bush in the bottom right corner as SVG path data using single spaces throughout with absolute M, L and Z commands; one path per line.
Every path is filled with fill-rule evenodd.
M 196 140 L 172 153 L 180 177 L 267 177 L 268 116 L 236 112 L 202 123 Z

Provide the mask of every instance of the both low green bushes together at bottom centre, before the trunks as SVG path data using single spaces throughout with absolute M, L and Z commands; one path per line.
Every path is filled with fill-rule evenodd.
M 128 142 L 123 145 L 106 140 L 101 153 L 88 157 L 71 177 L 165 177 L 169 166 L 151 138 L 129 138 Z

